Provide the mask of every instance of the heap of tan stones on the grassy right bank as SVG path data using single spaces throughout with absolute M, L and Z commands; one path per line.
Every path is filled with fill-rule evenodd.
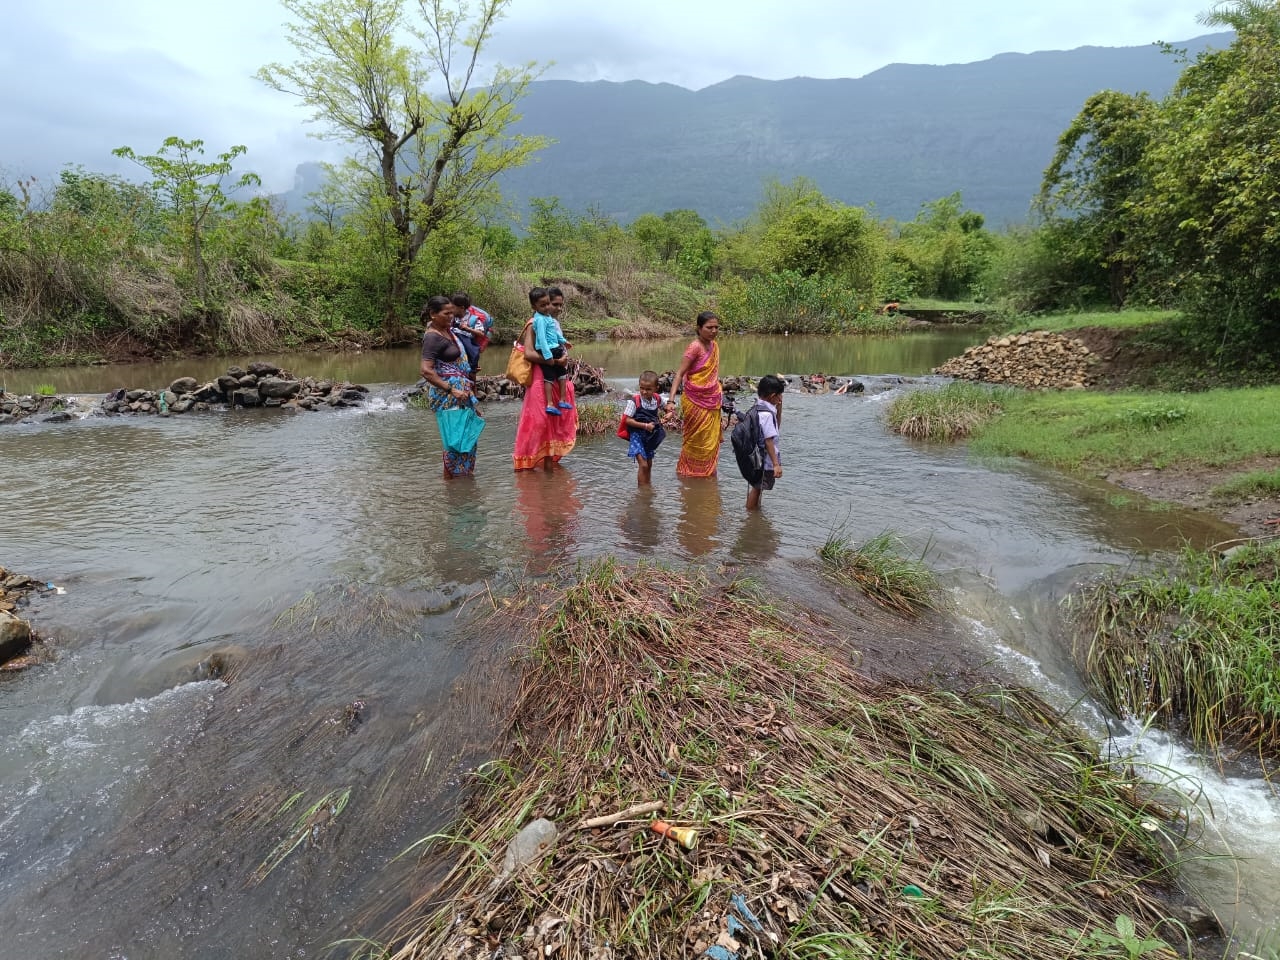
M 1002 383 L 1028 389 L 1079 390 L 1093 379 L 1097 355 L 1083 340 L 1048 330 L 992 337 L 933 372 L 959 380 Z

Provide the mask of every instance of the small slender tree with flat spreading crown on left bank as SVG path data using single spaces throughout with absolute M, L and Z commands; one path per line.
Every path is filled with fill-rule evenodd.
M 214 163 L 200 157 L 205 154 L 205 141 L 169 137 L 155 154 L 138 156 L 132 147 L 116 147 L 111 152 L 132 160 L 151 173 L 152 189 L 169 201 L 182 237 L 187 264 L 196 278 L 196 296 L 209 300 L 209 268 L 205 265 L 205 229 L 211 215 L 216 215 L 230 202 L 224 184 L 232 175 L 233 161 L 246 147 L 234 146 L 219 154 Z M 233 180 L 232 189 L 260 186 L 257 174 L 244 173 Z

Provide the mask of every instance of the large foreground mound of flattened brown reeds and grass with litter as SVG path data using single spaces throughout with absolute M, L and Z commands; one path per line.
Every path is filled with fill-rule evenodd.
M 614 561 L 511 613 L 535 637 L 511 748 L 370 955 L 1194 952 L 1162 901 L 1180 814 L 1029 692 L 872 681 L 750 582 Z M 535 818 L 558 836 L 508 874 Z

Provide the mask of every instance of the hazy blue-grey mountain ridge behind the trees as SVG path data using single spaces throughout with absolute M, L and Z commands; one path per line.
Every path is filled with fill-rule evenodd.
M 1189 56 L 1230 33 L 1175 44 Z M 631 81 L 540 81 L 517 129 L 553 137 L 502 179 L 521 214 L 559 197 L 630 223 L 698 210 L 710 223 L 750 214 L 765 179 L 809 177 L 829 197 L 911 219 L 960 191 L 1000 227 L 1027 220 L 1059 136 L 1101 90 L 1161 97 L 1185 64 L 1157 46 L 1002 54 L 945 67 L 891 64 L 858 79 L 735 77 L 690 91 Z M 319 183 L 298 169 L 291 209 Z

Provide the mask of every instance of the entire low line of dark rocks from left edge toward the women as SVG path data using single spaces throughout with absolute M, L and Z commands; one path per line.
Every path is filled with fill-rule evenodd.
M 31 416 L 42 416 L 44 422 L 49 424 L 77 420 L 91 413 L 172 416 L 223 407 L 329 410 L 358 406 L 367 398 L 369 388 L 362 384 L 297 378 L 274 364 L 253 362 L 247 369 L 228 367 L 225 374 L 207 383 L 200 383 L 193 376 L 179 376 L 163 390 L 122 387 L 101 401 L 0 394 L 0 424 L 13 424 Z

